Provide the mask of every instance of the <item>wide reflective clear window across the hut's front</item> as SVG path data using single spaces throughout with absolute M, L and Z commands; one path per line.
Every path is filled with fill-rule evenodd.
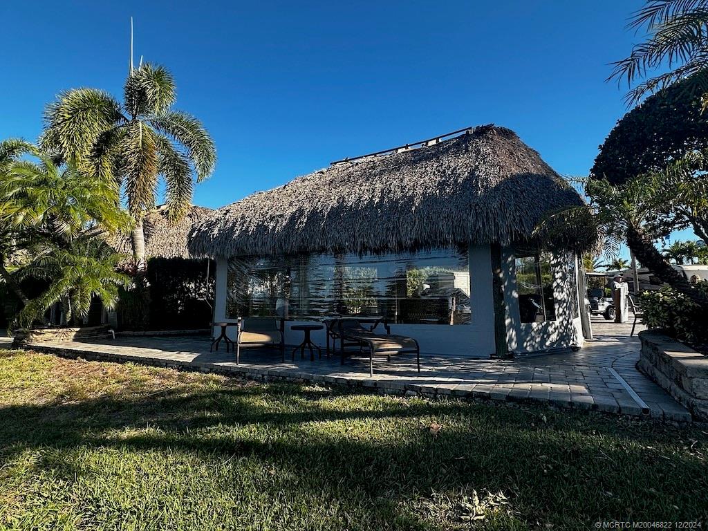
M 467 249 L 279 260 L 232 258 L 229 316 L 386 316 L 391 323 L 467 324 Z

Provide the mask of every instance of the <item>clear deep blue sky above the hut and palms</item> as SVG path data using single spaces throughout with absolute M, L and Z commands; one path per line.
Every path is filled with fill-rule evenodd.
M 4 2 L 0 137 L 35 139 L 59 91 L 119 96 L 135 55 L 212 133 L 219 207 L 346 156 L 469 125 L 510 127 L 584 175 L 627 108 L 608 63 L 640 0 Z M 678 237 L 686 239 L 688 234 Z M 674 239 L 676 236 L 674 237 Z

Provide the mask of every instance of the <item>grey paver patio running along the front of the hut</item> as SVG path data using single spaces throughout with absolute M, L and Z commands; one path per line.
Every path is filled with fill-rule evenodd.
M 377 388 L 382 392 L 474 396 L 496 400 L 544 401 L 556 406 L 597 409 L 641 415 L 641 401 L 651 416 L 690 421 L 690 413 L 671 396 L 636 370 L 639 340 L 630 338 L 631 324 L 593 320 L 595 338 L 576 353 L 536 355 L 514 360 L 474 360 L 459 356 L 421 354 L 422 370 L 416 372 L 412 355 L 391 362 L 375 359 L 374 376 L 368 374 L 368 358 L 324 357 L 309 361 L 263 348 L 241 350 L 241 365 L 233 353 L 210 353 L 205 336 L 118 337 L 115 340 L 83 340 L 42 343 L 34 350 L 72 357 L 133 361 L 167 367 L 244 375 L 256 379 L 305 379 L 313 382 Z M 290 354 L 290 351 L 288 351 Z M 623 386 L 629 384 L 641 401 Z

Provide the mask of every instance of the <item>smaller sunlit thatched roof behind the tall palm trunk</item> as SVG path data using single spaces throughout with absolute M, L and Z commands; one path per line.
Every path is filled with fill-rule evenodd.
M 191 258 L 187 249 L 187 236 L 195 222 L 204 219 L 211 212 L 210 208 L 191 206 L 181 222 L 167 220 L 164 205 L 147 212 L 143 218 L 145 233 L 145 254 L 147 258 Z M 108 244 L 119 253 L 132 256 L 130 234 L 113 234 Z

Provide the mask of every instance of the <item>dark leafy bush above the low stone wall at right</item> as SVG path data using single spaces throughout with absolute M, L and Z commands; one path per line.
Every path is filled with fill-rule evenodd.
M 708 280 L 700 282 L 695 289 L 708 294 Z M 708 329 L 704 309 L 692 302 L 683 293 L 670 287 L 641 295 L 644 324 L 652 329 L 664 329 L 678 339 L 692 345 L 708 343 Z

